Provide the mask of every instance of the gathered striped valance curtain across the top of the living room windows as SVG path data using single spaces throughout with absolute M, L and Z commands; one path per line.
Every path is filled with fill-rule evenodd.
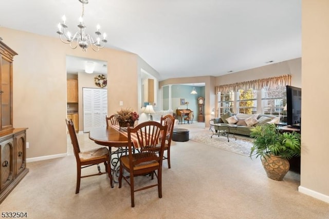
M 269 88 L 275 88 L 278 85 L 282 85 L 282 86 L 291 85 L 291 75 L 282 75 L 272 78 L 263 78 L 263 79 L 244 81 L 234 84 L 219 85 L 219 86 L 215 86 L 215 92 L 216 94 L 218 92 L 228 93 L 231 90 L 237 92 L 240 89 L 248 90 L 250 88 L 253 88 L 255 90 L 261 90 L 263 87 L 266 86 Z

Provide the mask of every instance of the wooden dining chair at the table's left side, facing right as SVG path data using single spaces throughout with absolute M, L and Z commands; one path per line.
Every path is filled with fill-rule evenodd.
M 111 174 L 111 159 L 109 155 L 109 151 L 105 147 L 96 148 L 88 151 L 81 152 L 79 147 L 79 142 L 77 138 L 77 134 L 74 129 L 74 124 L 72 120 L 66 120 L 67 129 L 71 138 L 71 143 L 73 145 L 74 155 L 77 160 L 77 187 L 76 187 L 76 194 L 79 193 L 80 190 L 80 180 L 84 177 L 89 176 L 97 176 L 102 174 L 108 174 L 109 181 L 111 183 L 111 187 L 113 187 L 113 180 Z M 105 165 L 105 172 L 101 172 L 99 163 L 104 163 Z M 97 165 L 98 173 L 84 175 L 81 176 L 81 169 Z

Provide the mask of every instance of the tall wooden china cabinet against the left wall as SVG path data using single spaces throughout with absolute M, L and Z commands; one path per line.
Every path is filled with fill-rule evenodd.
M 27 174 L 26 130 L 13 127 L 12 88 L 15 51 L 0 41 L 0 203 Z

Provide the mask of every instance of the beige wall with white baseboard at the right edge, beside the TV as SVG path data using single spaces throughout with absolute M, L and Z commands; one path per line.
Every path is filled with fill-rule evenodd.
M 299 191 L 329 203 L 329 1 L 302 0 L 302 156 Z M 322 118 L 322 119 L 316 119 Z

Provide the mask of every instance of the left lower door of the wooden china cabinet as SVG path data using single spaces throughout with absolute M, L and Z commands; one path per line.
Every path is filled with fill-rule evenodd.
M 13 139 L 0 142 L 1 147 L 1 189 L 13 179 Z

